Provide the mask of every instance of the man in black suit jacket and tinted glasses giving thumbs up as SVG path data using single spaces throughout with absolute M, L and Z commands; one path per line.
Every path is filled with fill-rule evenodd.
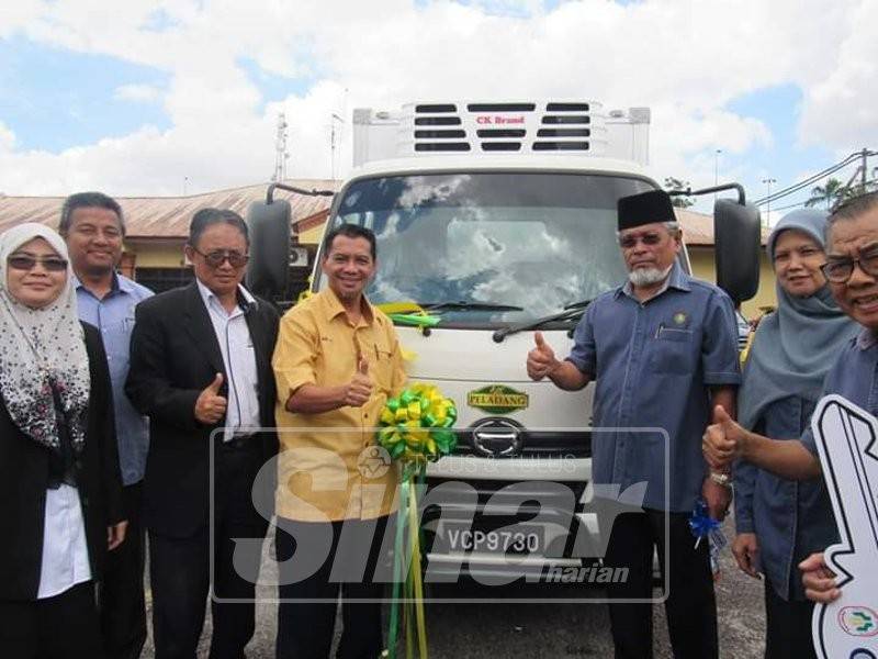
M 278 312 L 241 286 L 248 247 L 237 213 L 196 212 L 185 246 L 195 281 L 136 311 L 125 391 L 150 417 L 144 517 L 157 659 L 195 657 L 211 582 L 211 658 L 244 657 L 254 634 L 268 528 L 259 511 L 273 495 L 273 483 L 254 483 L 278 450 L 277 434 L 260 431 L 274 425 Z M 257 538 L 246 557 L 235 556 L 238 538 Z

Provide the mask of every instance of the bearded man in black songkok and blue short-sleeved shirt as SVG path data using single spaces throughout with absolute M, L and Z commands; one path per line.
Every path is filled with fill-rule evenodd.
M 716 518 L 731 500 L 729 476 L 709 471 L 700 437 L 711 405 L 734 414 L 734 309 L 720 289 L 683 270 L 680 231 L 665 192 L 623 198 L 618 210 L 629 280 L 592 302 L 565 360 L 537 333 L 528 375 L 565 390 L 595 380 L 600 432 L 593 434 L 593 481 L 619 491 L 645 485 L 644 512 L 612 524 L 605 563 L 628 568 L 629 579 L 609 595 L 648 600 L 657 547 L 668 569 L 675 656 L 709 659 L 718 656 L 712 572 L 708 543 L 696 547 L 688 517 L 699 498 Z M 649 604 L 611 603 L 610 623 L 617 658 L 652 657 Z

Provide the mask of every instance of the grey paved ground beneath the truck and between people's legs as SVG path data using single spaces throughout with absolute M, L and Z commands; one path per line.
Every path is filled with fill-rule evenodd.
M 725 532 L 731 537 L 731 524 L 725 524 Z M 721 657 L 762 657 L 765 630 L 762 588 L 762 582 L 738 570 L 725 549 L 722 577 L 717 585 Z M 261 592 L 266 597 L 272 595 L 271 589 Z M 493 594 L 487 590 L 480 596 L 491 599 Z M 654 612 L 655 656 L 671 658 L 664 611 L 656 606 Z M 260 604 L 257 616 L 257 634 L 248 648 L 248 657 L 273 658 L 275 606 Z M 427 626 L 434 659 L 612 656 L 607 608 L 600 604 L 519 604 L 505 597 L 480 604 L 434 604 L 427 607 Z M 207 656 L 210 616 L 205 627 L 200 657 Z M 153 656 L 151 645 L 148 645 L 144 657 Z

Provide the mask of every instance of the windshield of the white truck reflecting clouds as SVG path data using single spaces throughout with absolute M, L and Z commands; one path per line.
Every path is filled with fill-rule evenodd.
M 351 183 L 331 222 L 378 236 L 373 303 L 439 305 L 442 325 L 491 327 L 623 281 L 616 202 L 649 189 L 594 174 L 392 176 Z

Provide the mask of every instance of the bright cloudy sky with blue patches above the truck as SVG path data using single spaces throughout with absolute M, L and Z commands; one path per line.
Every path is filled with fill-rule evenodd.
M 564 98 L 649 107 L 657 181 L 753 200 L 878 148 L 876 25 L 878 0 L 2 2 L 0 193 L 264 182 L 279 112 L 288 175 L 344 177 L 354 108 Z

